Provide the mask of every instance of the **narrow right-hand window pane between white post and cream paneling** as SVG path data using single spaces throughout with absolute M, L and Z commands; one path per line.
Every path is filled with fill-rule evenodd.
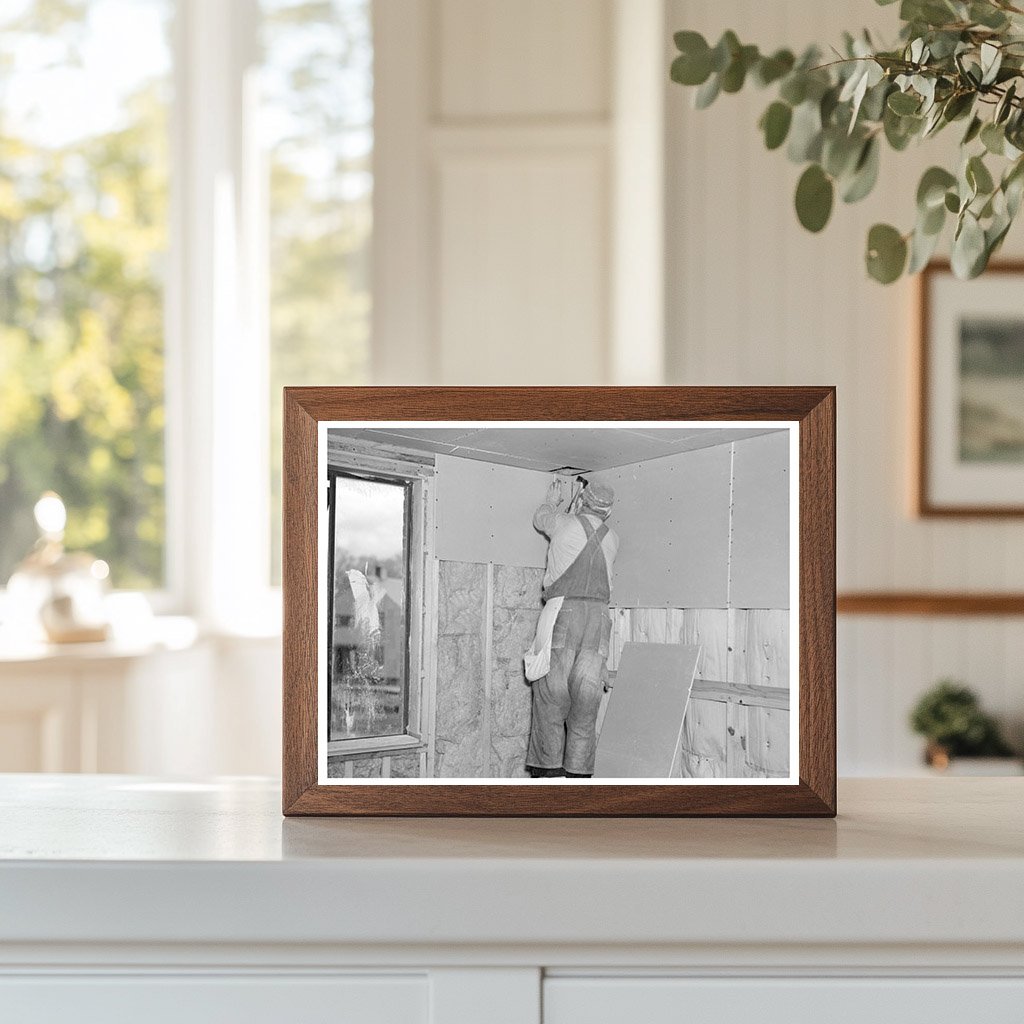
M 370 0 L 261 4 L 274 584 L 281 566 L 281 389 L 368 379 L 371 6 Z

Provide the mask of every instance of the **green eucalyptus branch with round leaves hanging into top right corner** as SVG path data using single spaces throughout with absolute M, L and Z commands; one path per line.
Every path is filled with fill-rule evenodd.
M 806 165 L 796 208 L 810 231 L 828 222 L 837 195 L 856 203 L 871 191 L 884 144 L 902 152 L 957 125 L 958 166 L 925 172 L 912 226 L 876 224 L 865 260 L 882 284 L 915 273 L 951 221 L 952 269 L 975 278 L 1024 198 L 1024 0 L 901 0 L 899 19 L 894 45 L 845 33 L 830 52 L 812 46 L 800 56 L 762 53 L 731 31 L 714 46 L 677 32 L 672 79 L 694 87 L 701 109 L 748 83 L 774 91 L 759 127 L 769 150 L 785 145 Z

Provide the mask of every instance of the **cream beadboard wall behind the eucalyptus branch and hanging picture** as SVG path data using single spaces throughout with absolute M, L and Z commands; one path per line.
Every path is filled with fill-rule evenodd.
M 669 30 L 717 39 L 731 28 L 764 47 L 828 43 L 864 25 L 888 27 L 876 38 L 895 35 L 895 8 L 868 0 L 668 7 Z M 752 89 L 693 111 L 691 92 L 667 86 L 670 382 L 838 386 L 840 590 L 1022 589 L 1020 521 L 909 513 L 913 285 L 883 288 L 862 266 L 868 226 L 910 226 L 918 177 L 949 142 L 885 153 L 878 195 L 839 204 L 828 227 L 811 236 L 793 212 L 800 169 L 765 152 L 756 128 L 768 94 Z M 1007 255 L 1021 255 L 1022 243 L 1018 228 Z M 947 675 L 969 682 L 1019 730 L 1024 621 L 841 617 L 841 773 L 913 770 L 921 744 L 907 712 Z

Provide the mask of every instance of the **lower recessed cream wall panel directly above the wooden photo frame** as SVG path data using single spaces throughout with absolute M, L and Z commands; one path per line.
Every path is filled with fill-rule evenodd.
M 544 129 L 528 147 L 506 147 L 489 130 L 478 133 L 476 152 L 440 146 L 438 370 L 445 384 L 597 384 L 606 377 L 607 142 L 586 131 L 580 145 L 549 146 L 560 131 Z

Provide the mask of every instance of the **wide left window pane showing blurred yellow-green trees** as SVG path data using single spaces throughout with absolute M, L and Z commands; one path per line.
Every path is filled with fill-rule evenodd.
M 0 585 L 49 489 L 116 587 L 164 583 L 172 8 L 0 12 Z

